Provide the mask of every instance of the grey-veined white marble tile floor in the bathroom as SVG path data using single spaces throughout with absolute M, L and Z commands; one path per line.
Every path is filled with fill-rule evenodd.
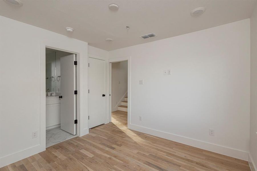
M 76 136 L 63 131 L 60 127 L 48 129 L 46 130 L 46 148 Z

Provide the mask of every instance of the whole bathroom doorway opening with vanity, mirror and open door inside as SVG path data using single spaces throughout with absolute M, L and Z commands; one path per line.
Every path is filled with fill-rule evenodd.
M 77 136 L 76 54 L 46 48 L 46 147 Z

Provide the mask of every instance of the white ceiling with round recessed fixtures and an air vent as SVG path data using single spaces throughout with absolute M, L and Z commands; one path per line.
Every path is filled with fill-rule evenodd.
M 22 0 L 17 7 L 0 0 L 0 15 L 67 35 L 104 50 L 145 42 L 247 19 L 256 0 Z M 108 5 L 119 5 L 110 11 Z M 205 7 L 201 16 L 190 11 Z M 130 29 L 127 31 L 126 26 Z M 66 27 L 74 28 L 72 33 Z M 18 28 L 17 28 L 18 29 Z M 139 36 L 156 33 L 141 39 Z M 106 38 L 114 39 L 107 42 Z

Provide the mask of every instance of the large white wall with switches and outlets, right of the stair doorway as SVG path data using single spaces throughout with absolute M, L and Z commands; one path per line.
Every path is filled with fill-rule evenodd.
M 109 52 L 124 56 L 131 56 L 129 128 L 247 160 L 250 19 Z

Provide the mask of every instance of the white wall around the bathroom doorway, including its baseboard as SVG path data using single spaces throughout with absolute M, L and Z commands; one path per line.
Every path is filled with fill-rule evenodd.
M 0 16 L 0 167 L 45 150 L 46 45 L 80 53 L 78 132 L 88 133 L 87 43 Z

